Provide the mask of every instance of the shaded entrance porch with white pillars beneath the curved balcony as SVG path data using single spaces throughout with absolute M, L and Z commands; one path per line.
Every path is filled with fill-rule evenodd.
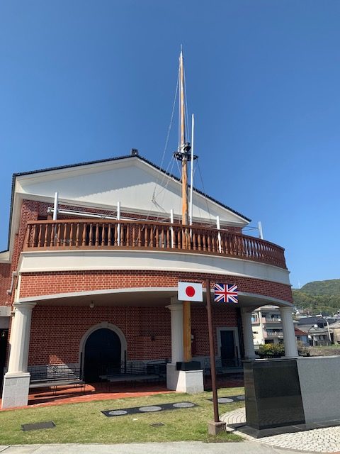
M 213 305 L 215 352 L 224 372 L 235 371 L 244 358 L 255 356 L 250 315 L 254 306 L 261 305 L 259 298 L 240 294 L 237 306 Z M 268 304 L 266 297 L 262 301 Z M 109 392 L 122 382 L 134 392 L 132 382 L 149 385 L 148 376 L 154 389 L 164 389 L 162 380 L 166 380 L 168 389 L 185 391 L 176 382 L 176 362 L 183 360 L 183 307 L 175 288 L 50 295 L 18 301 L 15 306 L 11 329 L 15 348 L 5 375 L 3 408 L 26 405 L 30 373 L 49 365 L 76 367 L 86 384 L 111 383 Z M 206 326 L 205 303 L 192 304 L 193 359 L 201 365 L 198 392 L 203 390 L 203 371 L 208 369 Z M 125 380 L 129 371 L 135 375 L 134 365 L 139 367 L 137 375 L 145 375 L 144 382 L 138 377 Z M 209 380 L 208 373 L 205 380 Z M 35 394 L 40 393 L 35 390 Z

